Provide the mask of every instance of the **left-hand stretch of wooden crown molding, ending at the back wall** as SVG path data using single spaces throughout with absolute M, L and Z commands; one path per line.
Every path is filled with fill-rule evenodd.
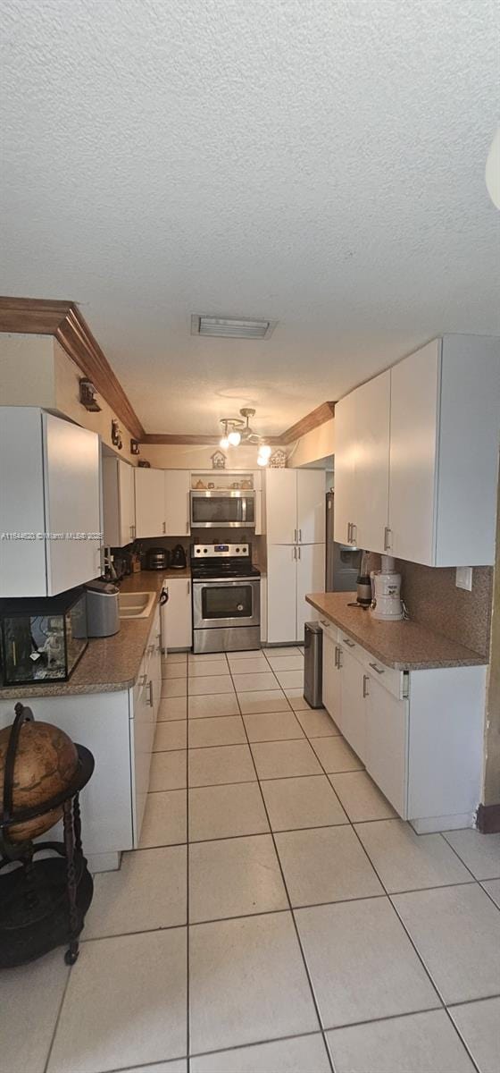
M 52 335 L 131 436 L 142 440 L 142 425 L 74 302 L 0 297 L 0 332 Z

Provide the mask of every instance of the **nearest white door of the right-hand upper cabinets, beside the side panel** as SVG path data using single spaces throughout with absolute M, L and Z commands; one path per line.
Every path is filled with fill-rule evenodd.
M 441 341 L 391 370 L 391 554 L 435 562 L 438 405 Z

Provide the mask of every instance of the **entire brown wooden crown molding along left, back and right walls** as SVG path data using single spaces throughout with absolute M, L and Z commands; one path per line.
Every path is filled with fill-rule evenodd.
M 99 394 L 139 443 L 212 445 L 217 444 L 221 439 L 219 436 L 145 432 L 120 381 L 75 302 L 0 297 L 0 332 L 55 336 L 67 356 L 92 381 Z M 281 436 L 268 436 L 266 440 L 272 446 L 288 446 L 301 436 L 330 421 L 334 411 L 334 402 L 322 402 L 301 421 L 290 425 Z

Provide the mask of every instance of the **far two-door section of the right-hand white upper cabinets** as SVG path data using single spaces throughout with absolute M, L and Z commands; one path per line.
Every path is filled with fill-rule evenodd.
M 389 370 L 335 407 L 335 540 L 372 552 L 384 550 L 390 410 Z

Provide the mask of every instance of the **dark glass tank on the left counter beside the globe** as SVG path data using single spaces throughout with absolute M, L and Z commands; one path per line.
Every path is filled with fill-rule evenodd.
M 0 681 L 67 681 L 88 645 L 85 589 L 0 600 Z

